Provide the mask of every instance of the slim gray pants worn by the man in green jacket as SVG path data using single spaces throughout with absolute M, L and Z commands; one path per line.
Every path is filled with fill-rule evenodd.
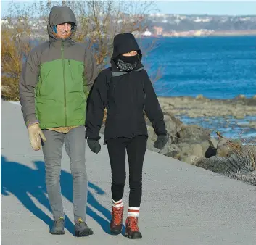
M 64 217 L 60 189 L 62 146 L 65 144 L 70 157 L 70 170 L 73 177 L 74 220 L 82 218 L 86 222 L 87 174 L 85 128 L 80 126 L 68 133 L 43 130 L 46 142 L 43 144 L 46 168 L 46 188 L 54 220 Z

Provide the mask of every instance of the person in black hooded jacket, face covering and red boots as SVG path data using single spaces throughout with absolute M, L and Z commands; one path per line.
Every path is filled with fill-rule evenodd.
M 149 76 L 141 64 L 141 50 L 131 33 L 114 38 L 111 67 L 102 70 L 95 80 L 86 111 L 86 139 L 94 153 L 99 153 L 99 130 L 104 109 L 107 120 L 104 144 L 112 170 L 112 220 L 110 231 L 121 233 L 123 223 L 123 191 L 125 186 L 125 150 L 129 162 L 129 208 L 125 236 L 142 238 L 138 228 L 142 192 L 142 166 L 148 138 L 144 111 L 152 122 L 162 149 L 168 141 L 162 109 Z

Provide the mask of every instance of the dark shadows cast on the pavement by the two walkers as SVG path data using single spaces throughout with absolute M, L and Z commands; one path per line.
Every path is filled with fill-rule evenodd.
M 49 209 L 51 212 L 49 200 L 46 196 L 44 162 L 37 161 L 34 162 L 34 164 L 36 170 L 22 165 L 19 162 L 9 162 L 6 157 L 1 155 L 1 194 L 4 196 L 9 196 L 10 193 L 13 194 L 30 212 L 33 213 L 33 215 L 43 220 L 47 225 L 51 225 L 52 219 L 39 207 L 37 207 L 30 198 L 30 196 L 33 196 L 40 204 L 44 205 L 44 207 Z M 60 179 L 62 195 L 65 196 L 65 198 L 70 202 L 73 202 L 72 175 L 62 170 Z M 102 188 L 99 188 L 98 186 L 94 185 L 94 183 L 88 181 L 88 189 L 89 188 L 96 191 L 96 194 L 104 194 Z M 87 215 L 92 217 L 96 223 L 99 223 L 104 232 L 110 234 L 110 211 L 103 207 L 89 190 L 87 203 L 99 211 L 104 217 L 97 215 L 96 212 L 94 212 L 94 210 L 88 206 Z M 66 215 L 65 220 L 65 228 L 67 228 L 67 230 L 73 234 L 73 223 Z

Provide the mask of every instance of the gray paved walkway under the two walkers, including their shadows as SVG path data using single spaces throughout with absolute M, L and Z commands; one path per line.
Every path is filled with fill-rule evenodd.
M 111 236 L 110 163 L 106 146 L 86 148 L 88 225 L 94 235 L 73 236 L 72 178 L 63 150 L 65 236 L 49 234 L 51 212 L 44 157 L 30 149 L 20 106 L 1 101 L 1 244 L 256 244 L 256 187 L 146 151 L 139 227 L 142 240 Z M 128 183 L 127 183 L 128 184 Z M 125 187 L 125 217 L 128 207 Z

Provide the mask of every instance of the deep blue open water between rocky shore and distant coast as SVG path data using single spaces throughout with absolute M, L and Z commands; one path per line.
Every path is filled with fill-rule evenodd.
M 256 94 L 256 36 L 207 38 L 144 38 L 142 49 L 158 96 L 230 99 Z M 161 72 L 162 70 L 162 72 Z

